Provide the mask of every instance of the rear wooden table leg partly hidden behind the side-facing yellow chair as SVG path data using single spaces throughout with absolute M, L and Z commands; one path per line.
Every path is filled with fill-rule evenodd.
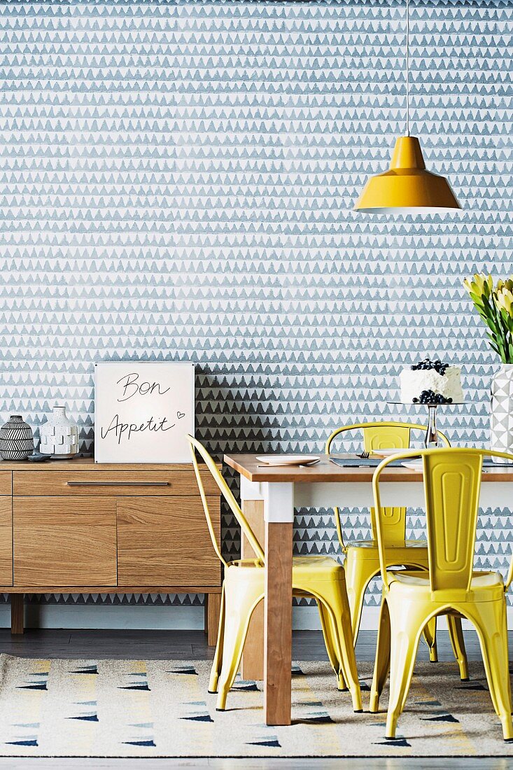
M 248 524 L 256 535 L 260 545 L 265 542 L 265 527 L 263 524 L 263 500 L 243 500 L 243 511 Z M 253 559 L 255 552 L 247 538 L 242 538 L 241 554 L 243 559 Z M 263 679 L 263 601 L 254 609 L 248 628 L 240 675 L 243 679 Z

